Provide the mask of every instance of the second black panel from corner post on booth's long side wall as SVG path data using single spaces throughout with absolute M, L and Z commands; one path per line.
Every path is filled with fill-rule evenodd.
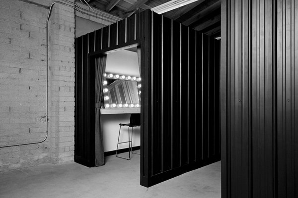
M 163 17 L 163 171 L 171 169 L 171 20 Z

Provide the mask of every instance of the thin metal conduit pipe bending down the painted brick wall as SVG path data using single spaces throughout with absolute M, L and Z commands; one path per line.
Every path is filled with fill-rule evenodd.
M 46 52 L 46 59 L 47 59 L 47 61 L 46 61 L 46 116 L 45 116 L 45 118 L 46 118 L 46 136 L 45 136 L 45 138 L 44 138 L 42 141 L 40 141 L 40 142 L 22 143 L 22 144 L 14 144 L 14 145 L 4 145 L 4 146 L 0 146 L 0 148 L 16 147 L 16 146 L 23 146 L 23 145 L 40 144 L 40 143 L 43 143 L 43 142 L 48 138 L 48 62 L 49 62 L 49 60 L 48 60 L 48 48 L 49 48 L 49 46 L 48 46 L 48 34 L 49 34 L 49 33 L 48 33 L 48 30 L 49 30 L 48 26 L 49 26 L 49 19 L 50 19 L 50 16 L 51 16 L 51 11 L 52 11 L 52 9 L 53 9 L 54 4 L 56 4 L 56 3 L 60 3 L 60 4 L 63 4 L 63 5 L 66 5 L 66 6 L 68 6 L 68 7 L 72 7 L 72 8 L 74 8 L 76 11 L 81 12 L 82 14 L 86 14 L 86 15 L 89 15 L 89 16 L 93 16 L 93 17 L 95 17 L 95 18 L 102 18 L 102 17 L 97 16 L 97 14 L 99 15 L 100 13 L 93 12 L 93 11 L 95 11 L 95 10 L 92 9 L 92 8 L 90 7 L 90 5 L 89 5 L 85 0 L 84 0 L 85 3 L 86 3 L 86 4 L 87 4 L 93 11 L 86 10 L 86 9 L 84 9 L 84 8 L 82 8 L 82 7 L 78 6 L 78 5 L 76 5 L 75 3 L 71 2 L 71 1 L 68 1 L 68 0 L 63 0 L 63 1 L 68 2 L 68 3 L 70 3 L 70 4 L 73 4 L 73 5 L 70 5 L 70 4 L 67 4 L 67 3 L 64 3 L 64 2 L 60 2 L 60 1 L 54 1 L 54 2 L 52 2 L 52 4 L 50 5 L 50 8 L 49 8 L 49 12 L 48 12 L 48 16 L 47 16 L 47 21 L 46 21 L 46 46 L 47 46 L 47 52 Z M 80 0 L 80 2 L 81 2 L 82 4 L 84 4 L 81 0 Z M 90 13 L 88 13 L 88 12 L 93 13 L 93 14 L 90 14 Z M 94 14 L 95 14 L 95 15 L 94 15 Z M 113 22 L 113 21 L 110 21 L 110 22 Z

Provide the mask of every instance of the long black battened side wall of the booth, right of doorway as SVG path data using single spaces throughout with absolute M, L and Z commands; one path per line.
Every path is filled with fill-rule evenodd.
M 220 160 L 220 41 L 151 13 L 148 184 Z

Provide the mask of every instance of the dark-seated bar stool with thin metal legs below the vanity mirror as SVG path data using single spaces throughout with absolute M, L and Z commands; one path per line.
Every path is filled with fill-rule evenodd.
M 120 127 L 119 127 L 119 134 L 118 134 L 116 157 L 130 160 L 131 159 L 130 152 L 134 153 L 133 148 L 132 148 L 132 146 L 133 146 L 133 133 L 134 133 L 133 128 L 134 127 L 139 127 L 141 125 L 141 114 L 140 113 L 132 113 L 131 116 L 130 116 L 130 123 L 127 123 L 127 124 L 120 123 L 119 125 L 120 125 Z M 119 142 L 121 126 L 128 126 L 128 141 L 126 141 L 126 142 Z M 130 128 L 132 128 L 132 139 L 130 139 Z M 119 144 L 123 144 L 123 143 L 128 143 L 128 158 L 118 156 L 118 146 L 119 146 Z M 138 153 L 134 153 L 134 154 L 138 154 Z

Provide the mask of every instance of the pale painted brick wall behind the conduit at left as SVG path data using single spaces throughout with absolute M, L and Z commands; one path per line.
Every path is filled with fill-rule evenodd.
M 52 0 L 35 0 L 49 6 Z M 0 1 L 0 145 L 45 136 L 48 9 Z M 74 10 L 55 5 L 50 27 L 49 138 L 0 148 L 0 171 L 74 160 Z

